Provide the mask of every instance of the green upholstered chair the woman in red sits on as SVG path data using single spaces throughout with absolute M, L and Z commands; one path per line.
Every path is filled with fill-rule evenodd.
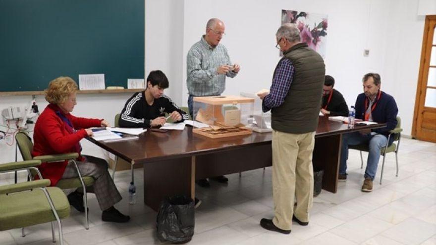
M 32 157 L 33 143 L 25 132 L 18 132 L 15 135 L 18 148 L 20 149 L 21 155 L 24 160 L 41 160 L 42 162 L 58 162 L 62 160 L 70 160 L 74 163 L 76 171 L 79 175 L 78 178 L 60 179 L 56 187 L 60 189 L 72 189 L 72 188 L 82 188 L 83 190 L 83 204 L 85 206 L 85 228 L 89 229 L 89 218 L 88 218 L 88 198 L 86 196 L 86 187 L 94 185 L 95 179 L 92 176 L 82 176 L 77 166 L 76 159 L 79 156 L 78 153 L 66 153 L 66 154 L 55 154 L 55 155 L 42 155 Z M 30 176 L 35 176 L 34 170 L 29 170 L 31 172 Z

